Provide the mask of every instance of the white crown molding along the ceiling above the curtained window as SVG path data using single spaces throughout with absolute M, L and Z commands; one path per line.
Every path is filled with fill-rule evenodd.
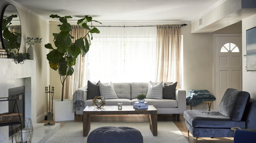
M 159 24 L 191 24 L 191 21 L 100 21 L 104 25 L 122 24 L 122 25 L 159 25 Z M 68 21 L 70 24 L 76 24 L 77 21 Z M 62 24 L 59 21 L 54 21 L 51 24 Z M 94 22 L 93 24 L 98 24 Z

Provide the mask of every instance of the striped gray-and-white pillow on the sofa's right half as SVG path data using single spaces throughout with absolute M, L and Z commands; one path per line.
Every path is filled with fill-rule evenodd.
M 149 81 L 147 99 L 163 99 L 163 81 L 155 85 Z

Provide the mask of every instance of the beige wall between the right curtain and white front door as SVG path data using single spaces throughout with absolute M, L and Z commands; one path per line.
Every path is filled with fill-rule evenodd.
M 183 35 L 183 89 L 207 89 L 213 93 L 213 34 L 242 33 L 242 23 L 232 24 L 213 33 L 191 33 L 191 24 L 181 28 Z M 187 106 L 187 109 L 190 109 Z M 208 110 L 200 104 L 196 110 Z

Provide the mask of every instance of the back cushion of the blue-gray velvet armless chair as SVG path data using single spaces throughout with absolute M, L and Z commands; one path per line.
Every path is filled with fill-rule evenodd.
M 248 92 L 228 88 L 222 97 L 219 112 L 233 121 L 240 121 L 249 99 Z

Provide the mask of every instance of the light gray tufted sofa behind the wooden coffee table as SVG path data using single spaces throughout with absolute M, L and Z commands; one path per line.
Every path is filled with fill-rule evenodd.
M 166 82 L 166 84 L 171 84 L 171 82 Z M 117 105 L 117 103 L 122 103 L 123 105 L 134 105 L 134 103 L 138 101 L 136 96 L 138 94 L 147 94 L 148 91 L 148 83 L 113 83 L 113 86 L 118 99 L 106 99 L 105 105 Z M 87 100 L 87 87 L 84 87 L 82 90 L 84 92 L 84 107 L 92 106 L 92 99 Z M 176 88 L 175 100 L 145 99 L 145 102 L 148 102 L 148 105 L 154 105 L 158 114 L 183 114 L 186 109 L 186 91 L 181 88 Z M 76 110 L 76 114 L 83 114 L 83 109 L 84 108 Z M 177 120 L 180 120 L 179 118 L 180 117 L 177 116 Z

